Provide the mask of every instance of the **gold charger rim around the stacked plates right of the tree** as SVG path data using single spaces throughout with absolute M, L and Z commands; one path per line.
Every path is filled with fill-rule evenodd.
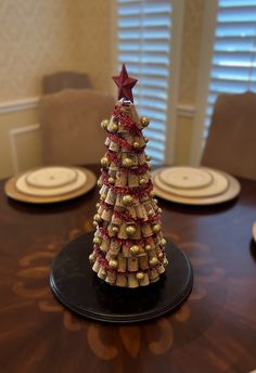
M 218 194 L 210 197 L 184 197 L 184 196 L 176 195 L 176 194 L 166 192 L 156 185 L 155 176 L 163 168 L 159 168 L 158 170 L 152 172 L 154 192 L 157 196 L 170 202 L 184 204 L 184 205 L 215 205 L 215 204 L 220 204 L 220 203 L 233 200 L 234 197 L 239 195 L 241 191 L 241 185 L 235 178 L 233 178 L 231 175 L 228 175 L 226 172 L 218 171 L 219 173 L 221 173 L 222 176 L 227 178 L 228 184 L 229 184 L 228 189 L 222 194 Z M 207 168 L 205 169 L 207 170 Z M 210 168 L 208 168 L 208 170 L 210 171 Z

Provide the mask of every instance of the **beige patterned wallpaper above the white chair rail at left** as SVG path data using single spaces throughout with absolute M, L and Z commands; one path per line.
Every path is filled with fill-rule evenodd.
M 0 102 L 40 94 L 44 74 L 87 72 L 110 90 L 107 0 L 0 0 Z

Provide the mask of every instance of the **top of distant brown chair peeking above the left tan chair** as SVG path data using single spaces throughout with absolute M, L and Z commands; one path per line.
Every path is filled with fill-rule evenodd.
M 64 89 L 85 89 L 91 88 L 91 82 L 86 73 L 59 72 L 46 75 L 42 78 L 42 93 L 50 94 L 60 92 Z

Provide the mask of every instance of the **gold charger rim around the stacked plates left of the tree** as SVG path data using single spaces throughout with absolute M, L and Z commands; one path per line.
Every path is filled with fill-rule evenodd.
M 21 178 L 22 176 L 24 176 L 25 173 L 28 173 L 30 171 L 35 171 L 37 169 L 39 169 L 39 168 L 28 170 L 26 172 L 21 172 L 18 175 L 15 175 L 11 179 L 9 179 L 4 184 L 5 194 L 10 198 L 21 201 L 21 202 L 26 202 L 26 203 L 33 203 L 33 204 L 57 203 L 57 202 L 63 202 L 63 201 L 76 198 L 76 197 L 89 192 L 95 185 L 95 182 L 97 182 L 97 177 L 92 171 L 90 171 L 87 168 L 77 167 L 77 169 L 79 171 L 85 173 L 86 183 L 81 188 L 79 188 L 73 192 L 64 193 L 64 194 L 60 194 L 60 195 L 54 195 L 54 196 L 34 196 L 34 195 L 28 195 L 28 194 L 18 192 L 16 189 L 17 179 Z

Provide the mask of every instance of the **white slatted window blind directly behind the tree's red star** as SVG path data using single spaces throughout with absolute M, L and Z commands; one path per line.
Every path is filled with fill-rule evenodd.
M 165 159 L 171 39 L 171 1 L 117 0 L 117 59 L 139 79 L 133 89 L 139 115 L 150 118 L 148 154 Z

